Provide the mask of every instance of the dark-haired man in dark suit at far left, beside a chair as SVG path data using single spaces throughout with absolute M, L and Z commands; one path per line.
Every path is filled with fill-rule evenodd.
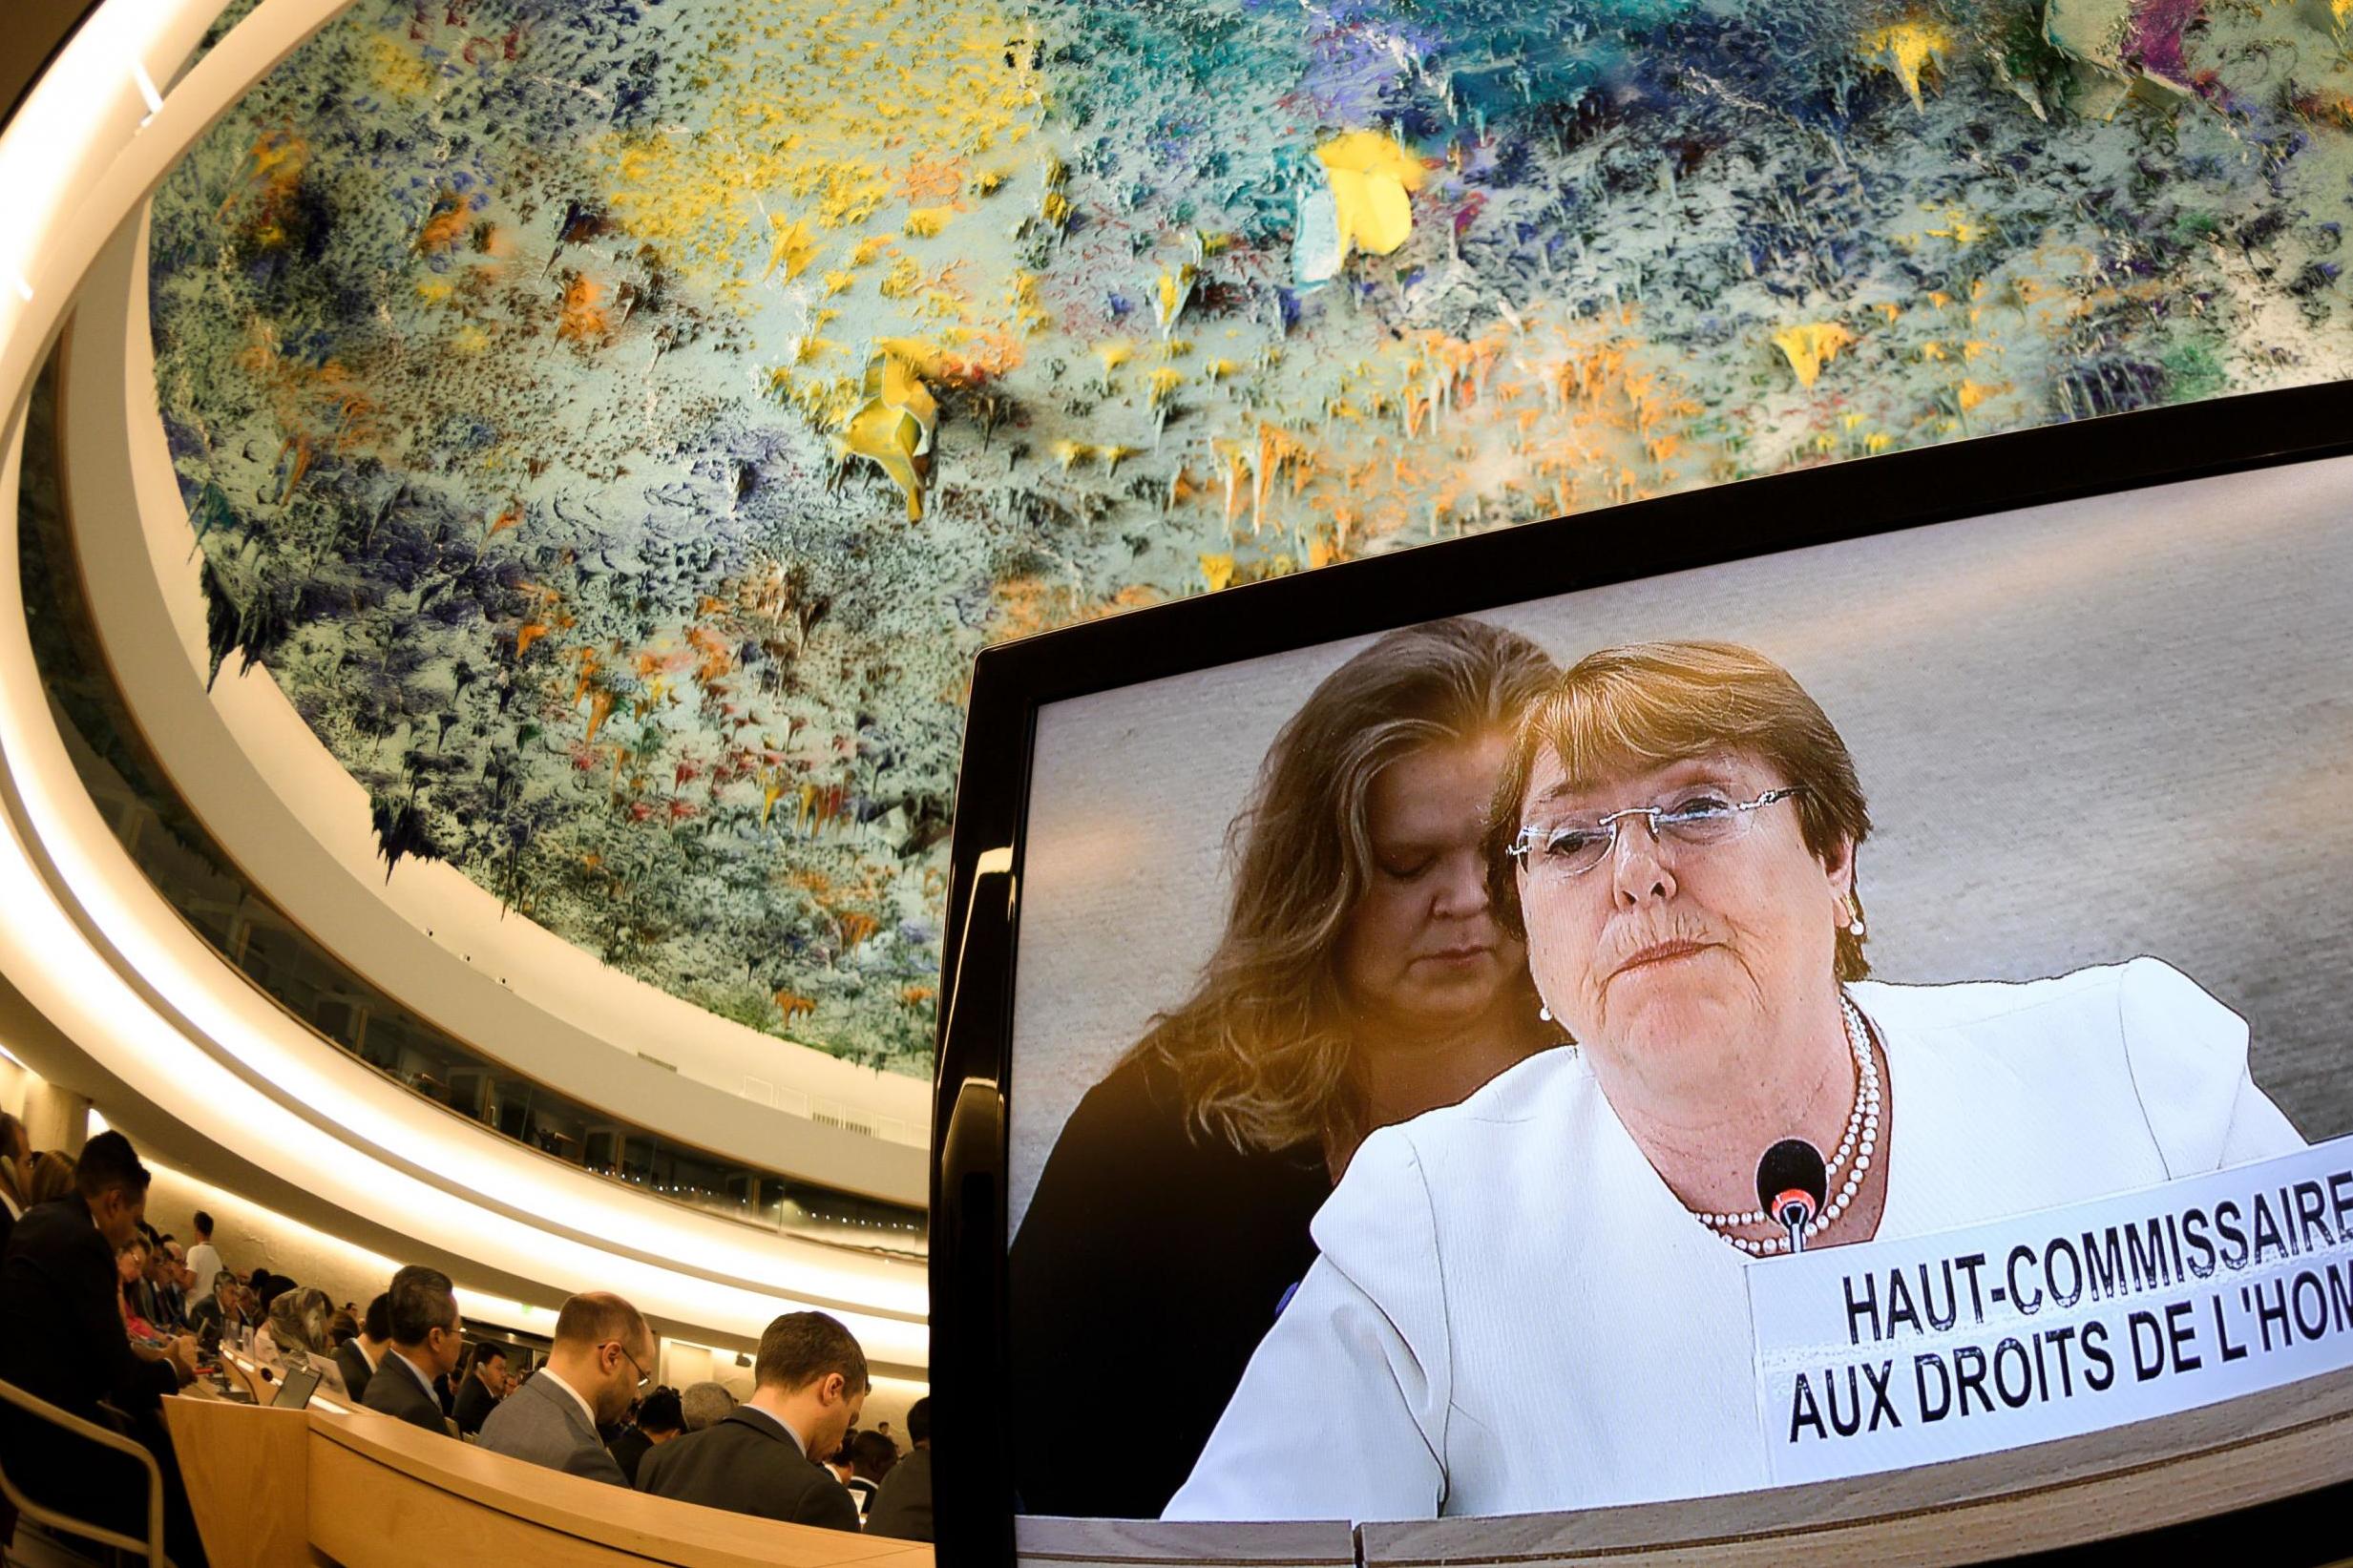
M 158 1399 L 195 1380 L 195 1340 L 139 1354 L 122 1333 L 115 1253 L 139 1232 L 148 1168 L 129 1138 L 99 1133 L 73 1166 L 73 1192 L 16 1220 L 0 1262 L 0 1378 L 35 1399 L 120 1429 L 99 1403 L 129 1418 L 162 1467 L 165 1540 L 179 1563 L 205 1547 L 162 1432 Z M 146 1535 L 146 1483 L 122 1455 L 21 1413 L 0 1410 L 0 1467 L 31 1497 L 125 1535 Z

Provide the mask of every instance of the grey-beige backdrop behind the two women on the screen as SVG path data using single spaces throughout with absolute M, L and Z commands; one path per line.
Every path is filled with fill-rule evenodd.
M 1739 505 L 1739 491 L 1722 496 Z M 1821 701 L 1878 823 L 1885 980 L 2158 954 L 2254 1025 L 2308 1138 L 2353 1131 L 2353 461 L 1541 599 L 1562 663 L 1725 637 Z M 1609 529 L 1607 512 L 1588 527 Z M 1040 715 L 1021 889 L 1012 1222 L 1078 1098 L 1186 994 L 1221 842 L 1282 719 L 1369 639 Z

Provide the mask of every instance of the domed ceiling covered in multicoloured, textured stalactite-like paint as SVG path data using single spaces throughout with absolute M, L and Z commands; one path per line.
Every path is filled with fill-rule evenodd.
M 2344 376 L 2348 12 L 360 0 L 155 200 L 214 658 L 388 863 L 927 1072 L 981 644 Z

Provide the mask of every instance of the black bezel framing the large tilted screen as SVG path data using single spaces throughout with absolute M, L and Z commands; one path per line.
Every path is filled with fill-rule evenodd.
M 1009 1387 L 1005 1335 L 1007 1098 L 1014 1088 L 1021 849 L 1040 708 L 1586 588 L 2346 454 L 2353 454 L 2353 383 L 2247 393 L 1506 527 L 981 651 L 955 790 L 932 1119 L 929 1373 L 939 1394 L 939 1549 L 960 1563 L 1014 1561 L 1014 1422 L 1000 1415 L 1026 1401 L 1024 1389 Z M 2311 1505 L 2308 1514 L 2292 1512 L 2318 1523 L 2327 1495 L 2289 1500 Z M 2144 1552 L 2169 1530 L 2198 1528 L 2200 1521 L 2188 1521 L 2134 1535 L 2129 1544 Z M 2113 1544 L 2122 1552 L 2125 1540 L 2113 1537 Z

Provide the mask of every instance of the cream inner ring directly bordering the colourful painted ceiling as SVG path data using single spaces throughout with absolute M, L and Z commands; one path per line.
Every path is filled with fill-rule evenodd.
M 207 7 L 209 9 L 209 7 Z M 341 7 L 311 5 L 289 26 L 325 26 Z M 285 49 L 254 54 L 254 63 L 231 75 L 219 66 L 233 45 L 247 42 L 247 31 L 275 24 L 285 14 L 280 0 L 264 5 L 240 24 L 188 78 L 165 99 L 174 110 L 202 94 L 198 110 L 219 99 L 221 113 L 271 68 Z M 167 73 L 158 73 L 167 75 Z M 207 80 L 209 78 L 209 80 Z M 125 110 L 127 113 L 127 110 Z M 193 115 L 174 122 L 155 113 L 134 132 L 136 153 L 165 150 L 169 172 L 181 150 L 167 143 L 193 143 L 212 122 Z M 174 132 L 174 134 L 167 134 Z M 141 195 L 144 202 L 144 195 Z M 96 202 L 75 214 L 85 219 Z M 141 249 L 144 256 L 144 249 Z M 268 670 L 261 679 L 221 679 L 205 693 L 205 658 L 193 654 L 188 670 L 172 670 L 160 658 L 148 599 L 162 592 L 162 604 L 181 623 L 184 635 L 202 644 L 202 595 L 179 583 L 172 567 L 188 562 L 186 505 L 172 480 L 172 458 L 153 395 L 148 339 L 148 289 L 144 268 L 127 282 L 122 299 L 87 299 L 85 277 L 71 280 L 80 310 L 113 315 L 129 310 L 127 331 L 141 350 L 144 386 L 127 386 L 127 409 L 108 409 L 106 421 L 127 423 L 127 454 L 108 451 L 104 463 L 85 468 L 106 482 L 122 477 L 127 461 L 136 480 L 139 505 L 120 517 L 104 512 L 104 527 L 118 538 L 132 538 L 127 552 L 99 550 L 89 557 L 92 609 L 115 609 L 115 632 L 101 639 L 122 649 L 118 663 L 122 696 L 144 729 L 162 719 L 181 738 L 155 755 L 174 776 L 181 799 L 221 839 L 238 863 L 271 865 L 254 875 L 264 889 L 313 940 L 336 954 L 379 990 L 400 997 L 461 1041 L 501 1039 L 513 1048 L 485 1048 L 518 1077 L 546 1084 L 591 1107 L 602 1107 L 619 1121 L 645 1121 L 649 1114 L 666 1126 L 696 1126 L 692 1143 L 713 1154 L 774 1171 L 788 1180 L 878 1197 L 892 1204 L 922 1206 L 927 1194 L 925 1154 L 929 1147 L 929 1084 L 925 1079 L 873 1072 L 812 1046 L 793 1044 L 661 992 L 593 954 L 574 947 L 464 877 L 454 865 L 416 863 L 402 867 L 398 882 L 384 882 L 374 870 L 376 839 L 367 823 L 367 797 L 358 780 L 327 752 L 308 729 Z M 45 280 L 40 296 L 56 299 L 59 284 Z M 0 301 L 0 322 L 7 320 Z M 14 348 L 14 343 L 12 343 Z M 14 357 L 14 355 L 12 355 Z M 31 369 L 26 371 L 31 374 Z M 78 421 L 75 440 L 92 421 Z M 104 437 L 113 447 L 113 433 Z M 155 482 L 155 473 L 162 482 Z M 146 522 L 144 522 L 146 517 Z M 141 529 L 172 529 L 179 538 L 141 538 Z M 141 583 L 141 562 L 153 543 L 158 571 Z M 125 623 L 118 595 L 139 599 Z M 191 625 L 193 616 L 193 625 Z M 122 630 L 122 628 L 129 630 Z M 193 675 L 191 675 L 193 670 Z M 193 701 L 191 701 L 193 693 Z M 224 738 L 226 731 L 226 738 Z M 181 771 L 179 748 L 193 771 Z M 209 752 L 202 743 L 209 741 Z M 292 764 L 296 783 L 256 769 L 238 750 L 278 764 Z M 228 766 L 221 766 L 221 757 Z M 209 759 L 207 759 L 209 757 Z M 285 823 L 264 830 L 254 820 L 261 799 L 254 788 L 275 795 Z M 226 804 L 224 804 L 226 802 Z M 821 1117 L 831 1117 L 821 1119 Z

